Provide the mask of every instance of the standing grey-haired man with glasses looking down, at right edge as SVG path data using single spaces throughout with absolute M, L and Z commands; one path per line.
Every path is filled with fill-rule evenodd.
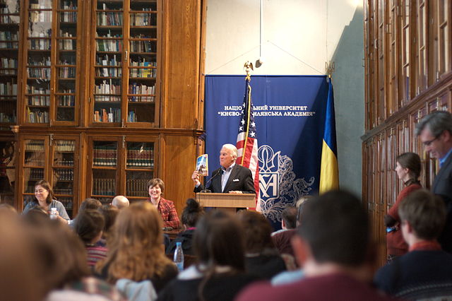
M 447 218 L 438 240 L 444 251 L 452 253 L 452 114 L 446 111 L 428 114 L 416 125 L 416 134 L 425 151 L 439 160 L 432 192 L 446 204 Z

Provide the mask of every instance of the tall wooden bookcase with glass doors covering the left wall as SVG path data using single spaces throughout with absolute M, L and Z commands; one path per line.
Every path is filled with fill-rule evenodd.
M 160 177 L 182 212 L 203 132 L 206 1 L 2 1 L 0 201 L 22 210 L 43 178 L 75 216 L 86 197 L 146 199 Z

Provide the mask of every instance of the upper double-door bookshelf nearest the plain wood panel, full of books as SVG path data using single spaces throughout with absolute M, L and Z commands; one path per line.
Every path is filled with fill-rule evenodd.
M 92 124 L 155 126 L 157 1 L 93 1 Z

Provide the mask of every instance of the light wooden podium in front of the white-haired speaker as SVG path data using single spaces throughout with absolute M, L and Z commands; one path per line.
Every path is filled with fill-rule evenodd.
M 196 201 L 204 207 L 234 211 L 237 208 L 256 207 L 256 194 L 216 194 L 198 192 Z

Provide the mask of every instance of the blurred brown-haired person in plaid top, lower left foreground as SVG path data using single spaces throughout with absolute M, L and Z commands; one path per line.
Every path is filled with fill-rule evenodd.
M 46 300 L 124 300 L 112 285 L 90 276 L 85 248 L 68 225 L 49 218 L 24 220 L 39 265 L 35 279 L 49 292 Z

